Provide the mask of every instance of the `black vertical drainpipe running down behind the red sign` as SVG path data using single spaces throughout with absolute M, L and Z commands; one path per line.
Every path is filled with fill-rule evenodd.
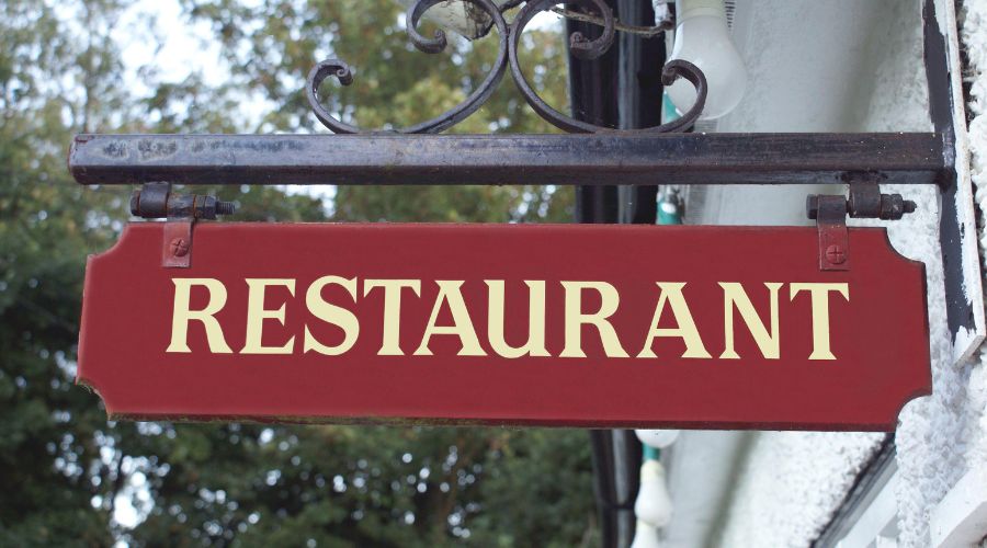
M 606 0 L 621 22 L 650 26 L 650 2 Z M 568 9 L 578 10 L 575 4 Z M 593 38 L 599 26 L 567 21 L 567 34 Z M 617 32 L 602 57 L 580 60 L 569 56 L 569 98 L 572 116 L 598 125 L 635 128 L 661 123 L 663 36 L 642 38 Z M 656 181 L 657 183 L 657 181 Z M 654 225 L 658 187 L 577 186 L 577 222 L 636 222 Z M 642 250 L 657 252 L 657 250 Z M 620 395 L 612 395 L 620 397 Z M 600 513 L 602 546 L 625 548 L 634 539 L 634 501 L 639 488 L 642 447 L 633 431 L 592 430 L 594 491 Z

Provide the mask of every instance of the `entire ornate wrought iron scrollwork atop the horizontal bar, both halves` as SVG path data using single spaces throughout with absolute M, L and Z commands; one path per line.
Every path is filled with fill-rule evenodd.
M 424 13 L 442 0 L 417 0 L 407 12 L 408 36 L 411 43 L 419 50 L 427 54 L 438 54 L 445 49 L 445 33 L 436 31 L 434 37 L 428 38 L 418 32 L 418 23 Z M 476 112 L 494 93 L 497 85 L 507 69 L 508 64 L 511 67 L 511 75 L 518 90 L 524 96 L 529 105 L 545 121 L 552 125 L 569 133 L 604 133 L 619 132 L 611 127 L 598 126 L 587 122 L 578 121 L 567 116 L 549 106 L 538 96 L 537 92 L 529 84 L 524 78 L 519 59 L 518 45 L 524 27 L 531 20 L 542 11 L 548 11 L 554 8 L 557 0 L 529 0 L 521 11 L 518 13 L 514 22 L 508 26 L 504 22 L 502 10 L 518 5 L 520 2 L 508 2 L 500 9 L 491 0 L 463 0 L 469 2 L 487 13 L 491 18 L 494 26 L 497 27 L 497 36 L 499 48 L 497 60 L 490 72 L 484 81 L 466 98 L 465 101 L 456 105 L 454 109 L 442 113 L 441 115 L 416 124 L 413 126 L 399 129 L 392 129 L 393 133 L 401 134 L 433 134 L 443 132 Z M 585 37 L 581 33 L 575 32 L 569 35 L 569 50 L 574 56 L 580 59 L 595 59 L 605 54 L 613 44 L 615 33 L 615 21 L 613 12 L 602 0 L 577 0 L 578 4 L 585 8 L 594 9 L 602 21 L 603 32 L 593 39 Z M 306 84 L 306 95 L 308 103 L 311 105 L 313 112 L 319 122 L 337 134 L 360 134 L 372 133 L 361 129 L 351 124 L 347 124 L 334 117 L 319 101 L 318 91 L 322 82 L 330 77 L 334 77 L 342 85 L 350 85 L 353 82 L 353 73 L 349 65 L 340 59 L 327 59 L 316 65 L 308 73 Z M 685 78 L 693 87 L 695 87 L 696 99 L 692 107 L 678 119 L 662 124 L 660 126 L 647 127 L 642 129 L 624 129 L 620 132 L 634 133 L 670 133 L 681 132 L 691 127 L 699 116 L 702 114 L 703 105 L 706 101 L 706 78 L 695 65 L 683 61 L 672 60 L 666 64 L 661 73 L 661 81 L 665 85 L 670 85 L 678 78 Z

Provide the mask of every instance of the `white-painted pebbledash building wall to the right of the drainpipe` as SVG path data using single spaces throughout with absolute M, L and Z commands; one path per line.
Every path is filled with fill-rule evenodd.
M 969 139 L 983 212 L 987 210 L 987 0 L 963 2 L 961 21 L 971 62 L 967 77 L 973 79 L 967 107 L 977 115 Z M 750 84 L 741 106 L 719 123 L 719 132 L 931 130 L 919 0 L 740 0 L 734 33 Z M 968 470 L 987 468 L 987 352 L 962 366 L 950 363 L 937 193 L 892 186 L 884 192 L 900 192 L 919 204 L 918 213 L 888 226 L 895 248 L 927 265 L 933 395 L 905 407 L 896 437 L 898 546 L 924 547 L 931 544 L 930 518 L 937 504 Z M 711 187 L 696 201 L 699 209 L 688 215 L 696 224 L 805 222 L 806 193 Z M 982 228 L 979 236 L 983 253 L 987 232 Z M 753 434 L 739 456 L 731 457 L 738 464 L 722 507 L 703 517 L 710 524 L 706 536 L 693 534 L 691 544 L 807 546 L 829 523 L 882 437 Z M 689 447 L 702 452 L 696 445 Z M 678 476 L 676 463 L 689 458 L 684 452 L 673 456 L 673 487 L 703 481 Z M 677 505 L 688 503 L 689 490 L 673 489 L 672 496 Z M 676 521 L 667 539 L 677 537 L 677 527 L 684 530 L 689 516 L 678 515 Z

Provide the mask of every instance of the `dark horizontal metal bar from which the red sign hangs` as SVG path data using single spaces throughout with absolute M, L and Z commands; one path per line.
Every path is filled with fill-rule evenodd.
M 82 184 L 929 184 L 942 135 L 80 135 Z

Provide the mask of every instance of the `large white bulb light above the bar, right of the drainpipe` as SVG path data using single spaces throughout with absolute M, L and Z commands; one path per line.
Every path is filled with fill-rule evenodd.
M 716 119 L 734 110 L 744 96 L 744 59 L 730 39 L 723 0 L 678 0 L 677 7 L 676 43 L 669 60 L 682 59 L 703 71 L 708 95 L 700 119 Z M 681 79 L 667 91 L 679 113 L 695 102 L 695 89 Z

